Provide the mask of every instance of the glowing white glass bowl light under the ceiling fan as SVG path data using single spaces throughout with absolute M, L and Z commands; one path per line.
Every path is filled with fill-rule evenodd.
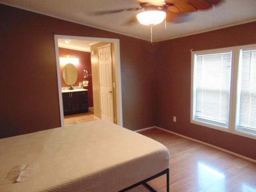
M 142 25 L 156 25 L 163 22 L 165 16 L 164 11 L 144 11 L 137 14 L 137 19 Z

